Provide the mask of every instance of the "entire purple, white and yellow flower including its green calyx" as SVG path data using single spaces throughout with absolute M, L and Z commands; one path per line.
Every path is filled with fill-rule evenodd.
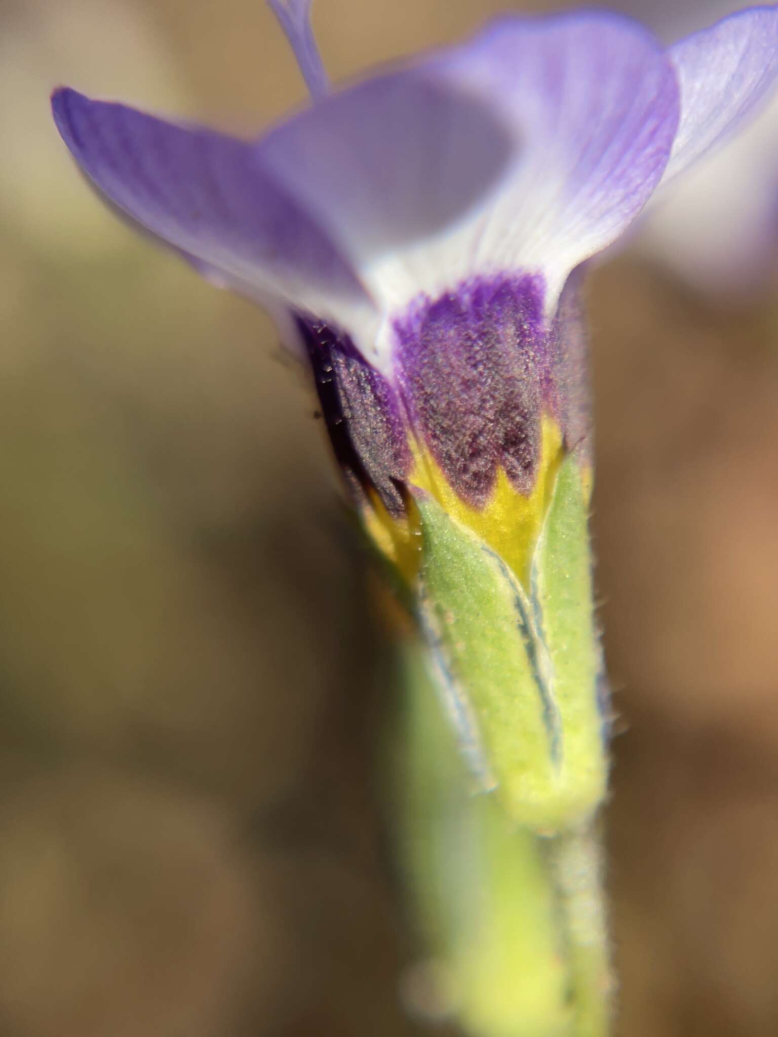
M 755 8 L 665 50 L 602 12 L 506 17 L 241 141 L 57 90 L 98 191 L 307 358 L 372 541 L 412 589 L 462 739 L 515 819 L 602 797 L 577 269 L 778 74 Z

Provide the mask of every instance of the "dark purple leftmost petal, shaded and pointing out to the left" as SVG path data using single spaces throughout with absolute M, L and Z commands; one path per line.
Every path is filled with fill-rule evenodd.
M 333 299 L 338 315 L 369 308 L 349 262 L 262 169 L 254 145 L 67 88 L 54 93 L 52 108 L 109 203 L 199 269 L 318 315 L 332 312 Z

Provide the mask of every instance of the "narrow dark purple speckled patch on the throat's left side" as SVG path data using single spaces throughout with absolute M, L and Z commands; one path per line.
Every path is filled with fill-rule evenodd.
M 297 317 L 310 358 L 322 414 L 350 488 L 374 489 L 391 514 L 405 510 L 400 485 L 411 453 L 397 394 L 348 335 Z

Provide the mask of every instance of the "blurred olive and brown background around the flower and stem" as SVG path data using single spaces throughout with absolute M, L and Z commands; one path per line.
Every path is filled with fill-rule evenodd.
M 342 78 L 504 6 L 315 24 Z M 304 96 L 260 0 L 0 3 L 0 1033 L 422 1034 L 390 654 L 313 399 L 260 311 L 101 208 L 60 82 L 237 133 Z M 774 288 L 591 282 L 624 1037 L 778 1032 Z

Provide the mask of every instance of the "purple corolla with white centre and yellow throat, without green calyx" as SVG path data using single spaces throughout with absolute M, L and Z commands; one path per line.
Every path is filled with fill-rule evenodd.
M 778 11 L 668 50 L 618 16 L 507 17 L 327 92 L 309 3 L 273 6 L 314 102 L 260 139 L 70 88 L 59 132 L 117 213 L 276 315 L 386 554 L 420 487 L 523 580 L 548 479 L 586 459 L 572 274 L 772 86 Z

